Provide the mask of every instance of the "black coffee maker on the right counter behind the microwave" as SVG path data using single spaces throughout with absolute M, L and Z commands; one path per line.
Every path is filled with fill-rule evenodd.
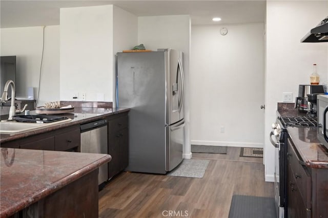
M 295 108 L 299 112 L 309 113 L 310 116 L 317 114 L 317 94 L 323 94 L 322 85 L 299 85 L 298 97 L 295 100 Z

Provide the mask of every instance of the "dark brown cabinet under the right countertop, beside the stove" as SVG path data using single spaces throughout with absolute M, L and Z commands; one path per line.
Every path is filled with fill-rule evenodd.
M 327 217 L 328 169 L 306 166 L 290 138 L 287 182 L 289 218 Z

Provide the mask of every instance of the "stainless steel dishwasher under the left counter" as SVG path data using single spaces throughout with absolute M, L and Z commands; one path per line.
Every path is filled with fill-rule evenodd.
M 108 154 L 107 120 L 100 119 L 91 123 L 80 125 L 81 152 Z M 98 185 L 103 188 L 108 180 L 108 163 L 99 167 Z

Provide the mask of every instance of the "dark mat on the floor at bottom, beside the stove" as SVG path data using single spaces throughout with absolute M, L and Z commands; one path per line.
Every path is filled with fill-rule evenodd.
M 234 195 L 229 218 L 276 218 L 274 198 Z

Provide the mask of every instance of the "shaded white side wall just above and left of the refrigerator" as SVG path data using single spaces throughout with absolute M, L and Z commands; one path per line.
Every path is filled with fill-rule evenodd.
M 138 17 L 114 6 L 113 8 L 113 72 L 117 72 L 116 53 L 130 50 L 137 44 Z M 116 107 L 116 73 L 113 74 L 113 107 Z

